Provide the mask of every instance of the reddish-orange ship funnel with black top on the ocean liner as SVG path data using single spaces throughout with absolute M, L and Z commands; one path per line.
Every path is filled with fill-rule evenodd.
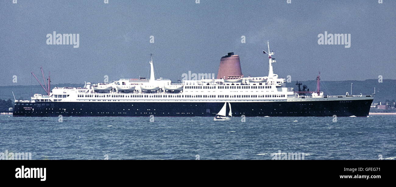
M 219 72 L 217 73 L 217 79 L 232 79 L 242 78 L 241 63 L 239 61 L 239 55 L 234 53 L 228 53 L 226 56 L 221 57 Z

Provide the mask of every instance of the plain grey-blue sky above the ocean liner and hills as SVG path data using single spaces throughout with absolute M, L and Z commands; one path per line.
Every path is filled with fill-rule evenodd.
M 245 77 L 266 76 L 267 40 L 282 78 L 396 79 L 395 20 L 394 0 L 1 0 L 0 86 L 36 85 L 40 67 L 51 84 L 148 78 L 150 53 L 156 78 L 217 76 L 228 52 Z M 78 48 L 47 44 L 53 31 L 78 34 Z M 319 45 L 325 31 L 350 34 L 350 48 Z

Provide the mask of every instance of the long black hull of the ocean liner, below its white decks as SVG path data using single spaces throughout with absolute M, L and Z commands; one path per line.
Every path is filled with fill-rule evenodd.
M 233 116 L 367 116 L 373 99 L 232 102 Z M 15 103 L 13 116 L 215 116 L 224 102 Z

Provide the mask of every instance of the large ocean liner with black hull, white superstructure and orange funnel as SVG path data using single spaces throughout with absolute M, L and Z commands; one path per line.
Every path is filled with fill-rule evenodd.
M 232 116 L 367 116 L 374 95 L 324 95 L 320 76 L 316 91 L 286 88 L 274 74 L 268 44 L 268 76 L 244 77 L 239 55 L 221 57 L 217 78 L 173 84 L 154 76 L 120 79 L 82 88 L 53 88 L 46 95 L 15 100 L 13 116 L 215 116 L 228 102 Z M 41 83 L 40 83 L 41 84 Z M 300 86 L 301 84 L 297 84 Z M 44 87 L 43 87 L 44 88 Z M 45 90 L 45 89 L 44 89 Z

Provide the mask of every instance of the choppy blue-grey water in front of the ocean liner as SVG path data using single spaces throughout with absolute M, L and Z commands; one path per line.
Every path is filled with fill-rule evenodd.
M 396 116 L 12 117 L 0 115 L 0 152 L 32 159 L 396 159 Z

